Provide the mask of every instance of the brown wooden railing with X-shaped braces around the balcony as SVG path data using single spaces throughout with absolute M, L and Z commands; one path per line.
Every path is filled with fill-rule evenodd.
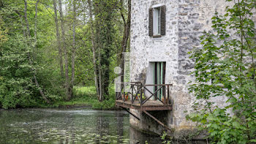
M 150 91 L 148 87 L 157 87 L 156 91 Z M 154 84 L 154 85 L 143 85 L 140 82 L 131 82 L 129 91 L 124 91 L 124 85 L 121 88 L 121 92 L 116 92 L 116 100 L 123 100 L 123 102 L 126 102 L 130 100 L 132 104 L 136 100 L 140 102 L 140 106 L 144 105 L 146 102 L 148 102 L 149 99 L 151 99 L 152 96 L 154 96 L 155 100 L 159 100 L 162 102 L 163 105 L 170 105 L 170 87 L 173 86 L 173 84 Z M 154 88 L 153 88 L 154 89 Z M 146 91 L 151 94 L 151 96 L 146 97 Z M 159 91 L 162 92 L 163 99 L 159 99 L 157 96 Z M 143 97 L 144 94 L 144 97 Z

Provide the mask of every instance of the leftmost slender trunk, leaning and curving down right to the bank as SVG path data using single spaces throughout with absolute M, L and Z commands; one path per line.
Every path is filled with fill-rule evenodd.
M 28 20 L 28 15 L 27 15 L 27 7 L 28 7 L 28 4 L 27 4 L 27 1 L 24 0 L 24 18 L 25 18 L 25 23 L 26 23 L 26 37 L 27 38 L 31 38 L 31 34 L 30 34 L 30 30 L 29 30 L 29 20 Z M 37 9 L 37 8 L 36 8 Z M 35 18 L 37 18 L 37 12 L 36 12 L 36 16 Z M 37 25 L 35 25 L 35 29 L 37 29 Z M 35 37 L 36 38 L 36 37 Z M 29 56 L 29 63 L 31 64 L 32 66 L 32 61 L 31 61 L 31 55 L 30 53 L 28 53 L 28 56 Z M 50 101 L 47 99 L 47 97 L 45 96 L 45 94 L 43 93 L 42 89 L 40 88 L 39 86 L 39 83 L 37 81 L 37 77 L 35 75 L 35 72 L 34 72 L 34 69 L 32 68 L 31 69 L 32 72 L 33 72 L 33 77 L 34 77 L 34 82 L 36 83 L 36 86 L 37 88 L 39 89 L 39 93 L 41 94 L 42 98 L 45 99 L 45 102 L 47 103 L 50 103 Z

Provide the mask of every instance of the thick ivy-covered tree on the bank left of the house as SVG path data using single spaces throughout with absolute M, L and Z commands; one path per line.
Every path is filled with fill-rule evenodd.
M 94 44 L 97 48 L 99 101 L 108 99 L 110 84 L 110 58 L 113 56 L 114 19 L 118 1 L 94 1 Z

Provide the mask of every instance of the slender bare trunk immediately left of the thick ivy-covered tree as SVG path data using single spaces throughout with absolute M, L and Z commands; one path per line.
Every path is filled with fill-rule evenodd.
M 90 16 L 90 24 L 91 24 L 91 49 L 92 49 L 92 55 L 93 55 L 93 62 L 94 62 L 94 81 L 95 81 L 95 87 L 97 89 L 97 96 L 99 98 L 99 83 L 98 83 L 98 72 L 97 72 L 97 58 L 96 58 L 96 48 L 95 48 L 95 42 L 94 42 L 94 24 L 92 20 L 92 12 L 91 12 L 91 0 L 88 0 L 89 4 L 89 16 Z

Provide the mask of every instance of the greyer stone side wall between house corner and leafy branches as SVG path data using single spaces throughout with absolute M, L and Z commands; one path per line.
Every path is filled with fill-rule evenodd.
M 191 129 L 184 113 L 192 111 L 194 97 L 188 94 L 187 83 L 193 81 L 189 75 L 194 67 L 194 61 L 189 58 L 188 52 L 192 48 L 200 48 L 200 36 L 203 31 L 211 31 L 211 18 L 217 11 L 225 12 L 227 3 L 224 0 L 180 0 L 178 2 L 178 69 L 174 75 L 173 82 L 173 124 L 177 129 Z M 214 99 L 219 101 L 219 99 Z M 217 102 L 223 105 L 224 102 Z

